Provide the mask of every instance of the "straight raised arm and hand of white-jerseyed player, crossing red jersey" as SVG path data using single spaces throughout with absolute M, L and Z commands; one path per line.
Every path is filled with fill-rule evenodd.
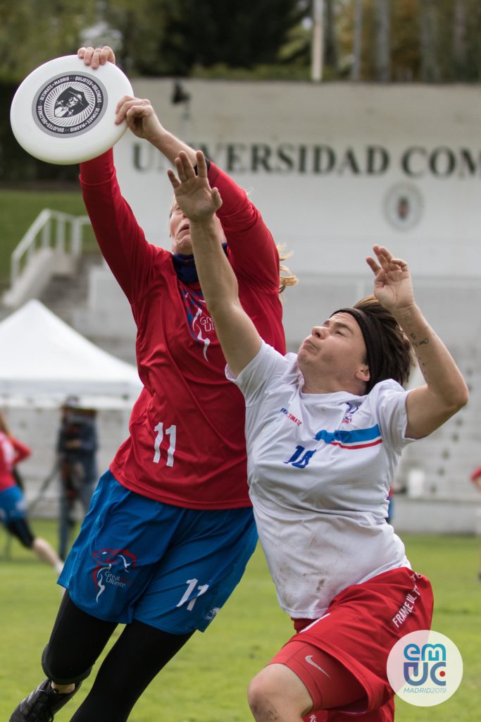
M 186 153 L 175 159 L 175 169 L 167 170 L 175 197 L 182 212 L 190 221 L 195 267 L 200 286 L 224 356 L 234 376 L 255 357 L 261 339 L 254 323 L 239 301 L 237 279 L 222 249 L 221 227 L 216 210 L 222 200 L 217 188 L 211 188 L 207 178 L 207 165 L 198 150 L 198 175 Z

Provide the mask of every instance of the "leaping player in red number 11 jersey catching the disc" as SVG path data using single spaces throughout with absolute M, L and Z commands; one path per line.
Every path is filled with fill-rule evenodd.
M 92 71 L 115 61 L 107 46 L 81 48 L 79 57 Z M 195 151 L 164 129 L 149 100 L 124 97 L 116 112 L 116 122 L 126 120 L 170 162 L 181 150 L 195 162 Z M 112 151 L 81 163 L 80 174 L 97 241 L 131 304 L 144 389 L 59 579 L 67 591 L 43 653 L 47 679 L 11 722 L 50 722 L 125 623 L 71 718 L 124 722 L 156 674 L 219 613 L 257 544 L 244 400 L 226 380 L 190 224 L 174 203 L 172 251 L 152 245 L 121 195 Z M 247 193 L 213 162 L 208 174 L 224 197 L 216 222 L 244 308 L 284 353 L 279 293 L 296 279 L 281 276 L 288 269 Z

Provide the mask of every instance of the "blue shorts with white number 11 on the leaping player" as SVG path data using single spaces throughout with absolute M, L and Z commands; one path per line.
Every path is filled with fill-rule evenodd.
M 172 634 L 206 630 L 257 544 L 252 508 L 184 509 L 125 489 L 110 471 L 58 583 L 108 622 L 138 619 Z

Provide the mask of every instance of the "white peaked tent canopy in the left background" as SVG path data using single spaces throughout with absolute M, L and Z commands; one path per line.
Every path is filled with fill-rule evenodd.
M 0 401 L 75 394 L 84 404 L 88 398 L 89 405 L 105 406 L 106 397 L 132 401 L 140 390 L 136 367 L 89 342 L 40 301 L 0 323 Z

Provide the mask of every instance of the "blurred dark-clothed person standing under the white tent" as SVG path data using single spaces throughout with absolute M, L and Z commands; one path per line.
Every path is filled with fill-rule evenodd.
M 68 396 L 61 407 L 61 424 L 57 438 L 60 475 L 58 554 L 65 560 L 75 526 L 78 500 L 89 510 L 97 484 L 97 427 L 93 409 L 82 409 L 77 396 Z

